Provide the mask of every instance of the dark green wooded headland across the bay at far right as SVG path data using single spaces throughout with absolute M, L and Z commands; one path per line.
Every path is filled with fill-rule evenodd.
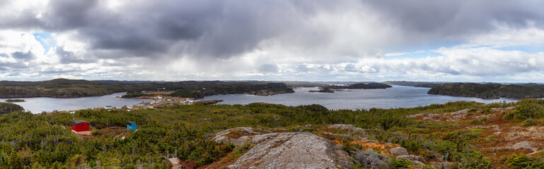
M 516 84 L 445 83 L 433 87 L 428 94 L 468 96 L 482 99 L 538 99 L 544 97 L 544 85 L 522 86 Z

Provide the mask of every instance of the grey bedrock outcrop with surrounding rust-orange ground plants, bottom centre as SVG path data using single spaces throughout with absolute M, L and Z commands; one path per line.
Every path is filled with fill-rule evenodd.
M 236 127 L 216 133 L 212 140 L 251 148 L 236 161 L 218 161 L 207 168 L 402 168 L 427 163 L 398 144 L 366 137 L 363 129 L 343 124 L 305 125 L 299 132 Z

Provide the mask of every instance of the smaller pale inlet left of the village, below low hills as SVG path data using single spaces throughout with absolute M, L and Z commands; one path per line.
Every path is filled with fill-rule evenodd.
M 19 98 L 25 102 L 16 102 L 25 108 L 25 111 L 32 113 L 41 113 L 42 111 L 72 111 L 86 108 L 99 108 L 104 106 L 125 106 L 137 105 L 141 101 L 149 101 L 148 99 L 122 99 L 115 96 L 120 96 L 122 93 L 114 93 L 105 96 L 91 96 L 79 98 L 50 98 L 50 97 L 35 97 L 35 98 Z M 0 99 L 6 101 L 7 99 Z

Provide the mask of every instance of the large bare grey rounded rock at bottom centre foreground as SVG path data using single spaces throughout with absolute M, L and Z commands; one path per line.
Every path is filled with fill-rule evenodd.
M 353 168 L 345 151 L 316 134 L 284 132 L 257 137 L 263 141 L 228 168 Z

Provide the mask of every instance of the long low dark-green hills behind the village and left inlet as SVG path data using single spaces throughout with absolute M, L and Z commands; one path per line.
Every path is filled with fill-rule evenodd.
M 0 81 L 0 98 L 55 97 L 73 98 L 103 96 L 115 92 L 128 92 L 124 98 L 145 95 L 145 91 L 172 91 L 171 96 L 202 98 L 216 94 L 273 95 L 294 92 L 283 82 L 265 81 L 88 81 L 55 79 L 40 82 Z M 324 85 L 312 82 L 292 82 L 296 87 Z

